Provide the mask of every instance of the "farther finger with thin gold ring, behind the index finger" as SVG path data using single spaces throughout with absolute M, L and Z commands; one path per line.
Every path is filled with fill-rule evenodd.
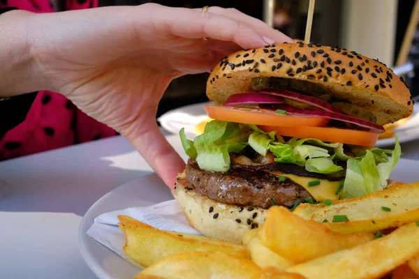
M 199 11 L 198 9 L 196 10 Z M 242 13 L 240 10 L 235 8 L 220 8 L 213 6 L 207 9 L 207 13 L 221 15 L 223 17 L 228 17 L 232 20 L 235 20 L 236 22 L 242 22 L 242 24 L 246 24 L 249 28 L 259 33 L 266 43 L 293 43 L 293 40 L 286 36 L 284 33 L 269 27 L 262 20 L 258 20 L 255 17 L 246 15 L 245 13 Z

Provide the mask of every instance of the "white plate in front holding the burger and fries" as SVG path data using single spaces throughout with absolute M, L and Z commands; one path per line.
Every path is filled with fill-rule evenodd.
M 400 159 L 390 177 L 394 181 L 419 181 L 419 161 Z M 149 206 L 172 199 L 172 194 L 156 174 L 128 182 L 99 199 L 84 215 L 79 229 L 80 251 L 87 265 L 100 279 L 133 279 L 141 271 L 115 252 L 94 241 L 86 232 L 101 213 L 131 206 Z

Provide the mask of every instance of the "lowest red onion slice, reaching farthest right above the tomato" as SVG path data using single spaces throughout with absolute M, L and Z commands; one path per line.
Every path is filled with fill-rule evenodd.
M 313 116 L 323 116 L 328 119 L 335 119 L 338 121 L 343 121 L 346 123 L 352 123 L 356 126 L 369 128 L 371 132 L 374 133 L 384 133 L 385 130 L 383 126 L 377 125 L 376 123 L 372 123 L 370 121 L 359 119 L 356 117 L 339 114 L 336 112 L 326 112 L 325 110 L 303 110 L 299 109 L 297 107 L 293 107 L 291 105 L 281 104 L 281 105 L 275 105 L 275 109 L 279 110 L 285 110 L 287 114 L 304 114 L 304 115 L 313 115 Z

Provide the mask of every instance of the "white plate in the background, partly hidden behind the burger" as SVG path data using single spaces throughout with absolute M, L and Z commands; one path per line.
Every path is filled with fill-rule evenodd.
M 207 112 L 204 110 L 204 105 L 210 103 L 198 103 L 195 105 L 186 105 L 179 107 L 176 110 L 170 110 L 157 119 L 163 128 L 170 133 L 177 134 L 179 130 L 185 128 L 186 137 L 193 140 L 198 133 L 196 126 L 198 123 L 207 118 Z M 399 142 L 411 142 L 412 140 L 419 139 L 419 104 L 413 106 L 413 115 L 411 119 L 406 121 L 404 126 L 395 129 L 396 134 L 399 136 Z M 377 147 L 392 146 L 395 144 L 395 138 L 378 140 Z

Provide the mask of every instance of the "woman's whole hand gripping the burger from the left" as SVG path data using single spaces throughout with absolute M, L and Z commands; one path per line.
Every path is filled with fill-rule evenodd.
M 208 72 L 236 50 L 292 42 L 260 20 L 218 7 L 95 8 L 34 15 L 30 23 L 31 54 L 47 81 L 42 89 L 63 93 L 124 135 L 170 188 L 184 169 L 156 123 L 170 81 Z

